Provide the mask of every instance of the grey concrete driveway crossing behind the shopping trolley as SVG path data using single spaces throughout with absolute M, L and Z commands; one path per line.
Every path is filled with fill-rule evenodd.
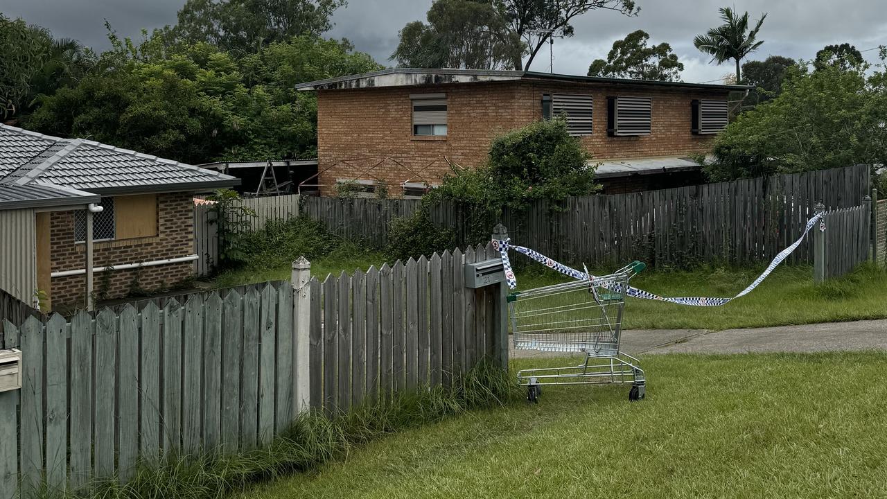
M 513 358 L 563 357 L 564 353 L 515 351 Z M 636 353 L 746 353 L 887 350 L 887 320 L 826 322 L 803 326 L 725 329 L 628 329 L 622 350 Z

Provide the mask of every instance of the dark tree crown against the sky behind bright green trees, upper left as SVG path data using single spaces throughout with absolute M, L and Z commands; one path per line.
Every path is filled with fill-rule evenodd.
M 224 51 L 255 52 L 291 36 L 320 36 L 346 0 L 187 0 L 175 36 Z

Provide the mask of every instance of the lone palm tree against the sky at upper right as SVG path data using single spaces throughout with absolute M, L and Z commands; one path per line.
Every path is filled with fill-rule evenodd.
M 718 64 L 734 59 L 736 83 L 740 83 L 742 82 L 739 73 L 740 61 L 764 43 L 764 40 L 757 42 L 756 38 L 757 30 L 764 24 L 767 14 L 764 13 L 761 19 L 757 20 L 755 28 L 749 31 L 749 12 L 738 16 L 730 7 L 722 7 L 718 12 L 724 24 L 718 28 L 710 28 L 705 35 L 696 36 L 693 44 L 700 51 L 710 54 L 711 60 L 718 61 Z

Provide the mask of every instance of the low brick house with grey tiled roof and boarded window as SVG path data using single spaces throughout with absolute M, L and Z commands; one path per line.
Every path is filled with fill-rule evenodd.
M 0 124 L 0 288 L 58 310 L 184 281 L 198 258 L 193 194 L 238 183 Z

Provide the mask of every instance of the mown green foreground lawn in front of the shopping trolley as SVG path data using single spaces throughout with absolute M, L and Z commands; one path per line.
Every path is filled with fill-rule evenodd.
M 548 387 L 537 406 L 398 432 L 233 497 L 887 495 L 887 354 L 641 361 L 647 400 L 629 403 L 625 385 Z

